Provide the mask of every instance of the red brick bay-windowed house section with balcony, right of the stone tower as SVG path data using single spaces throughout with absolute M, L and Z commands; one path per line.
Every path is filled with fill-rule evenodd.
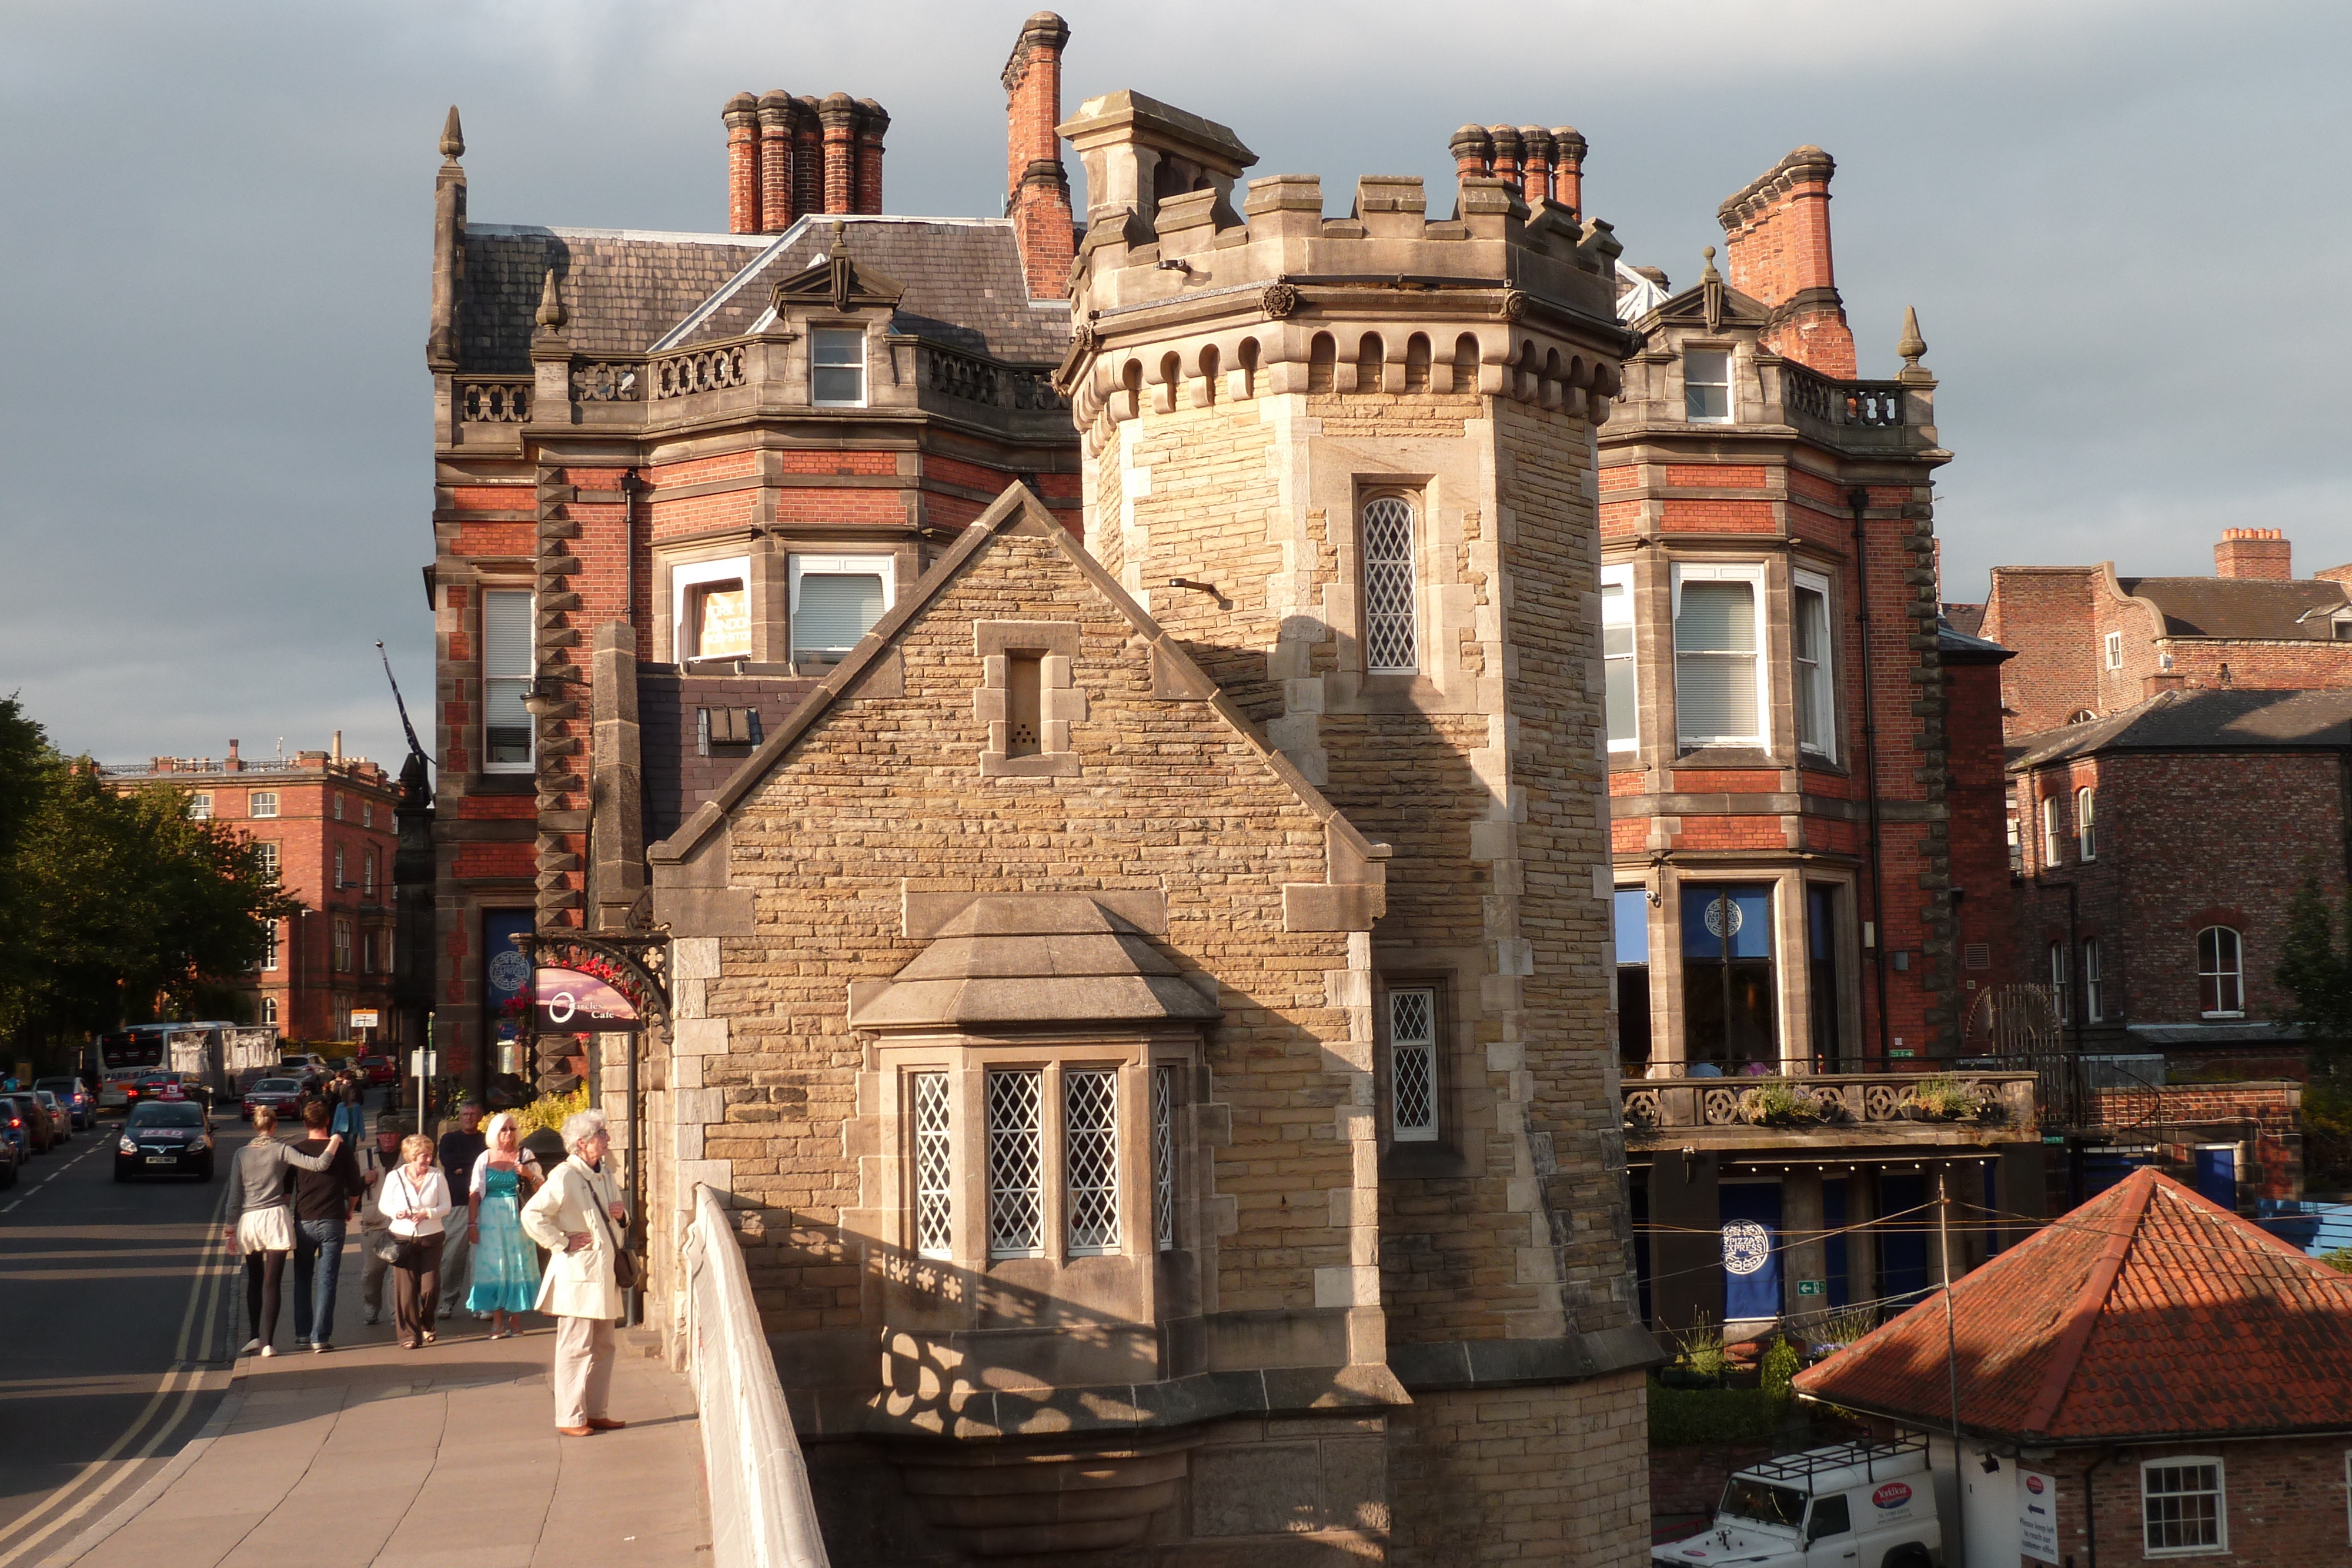
M 1936 378 L 1910 317 L 1900 369 L 1856 378 L 1832 172 L 1797 148 L 1729 197 L 1693 287 L 1621 273 L 1642 346 L 1597 435 L 1618 1070 L 1663 1328 L 1922 1291 L 1940 1190 L 2042 1211 L 2030 1081 L 1971 1070 L 1980 1114 L 1905 1110 L 2018 978 L 2009 649 L 1938 614 Z

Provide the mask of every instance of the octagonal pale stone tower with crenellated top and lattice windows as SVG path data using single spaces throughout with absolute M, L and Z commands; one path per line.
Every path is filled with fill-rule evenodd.
M 1442 221 L 1418 179 L 1324 219 L 1284 174 L 1235 212 L 1249 148 L 1131 92 L 1061 134 L 1094 202 L 1061 374 L 1087 545 L 1392 846 L 1345 999 L 1378 1128 L 1378 1258 L 1345 1274 L 1414 1399 L 1392 1561 L 1644 1561 L 1595 489 L 1618 244 L 1475 172 Z

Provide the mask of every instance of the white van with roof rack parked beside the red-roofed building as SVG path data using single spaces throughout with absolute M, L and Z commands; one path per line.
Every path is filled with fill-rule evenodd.
M 1750 1465 L 1724 1483 L 1715 1523 L 1653 1568 L 1938 1568 L 1943 1526 L 1926 1439 L 1835 1443 Z

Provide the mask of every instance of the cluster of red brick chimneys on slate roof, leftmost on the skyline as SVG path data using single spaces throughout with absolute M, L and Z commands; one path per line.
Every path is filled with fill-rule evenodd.
M 811 212 L 882 212 L 889 110 L 873 99 L 739 92 L 720 118 L 729 233 L 781 235 Z

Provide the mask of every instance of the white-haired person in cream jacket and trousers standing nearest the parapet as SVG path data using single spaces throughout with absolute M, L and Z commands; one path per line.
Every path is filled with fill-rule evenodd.
M 604 1154 L 612 1138 L 604 1114 L 583 1110 L 564 1121 L 564 1164 L 522 1206 L 522 1229 L 548 1248 L 539 1309 L 555 1316 L 555 1429 L 564 1436 L 616 1432 L 628 1422 L 604 1415 L 612 1396 L 612 1321 L 635 1267 L 621 1251 L 628 1208 L 621 1206 Z

